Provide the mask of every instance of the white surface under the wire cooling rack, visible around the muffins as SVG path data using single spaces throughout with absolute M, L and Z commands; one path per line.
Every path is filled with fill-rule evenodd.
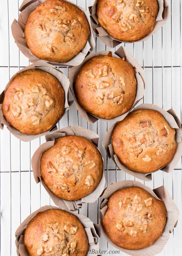
M 94 0 L 72 0 L 88 10 Z M 146 76 L 145 97 L 141 103 L 154 103 L 165 110 L 174 108 L 181 119 L 181 0 L 172 2 L 172 18 L 148 41 L 126 44 L 141 66 L 144 66 Z M 22 0 L 2 0 L 0 9 L 0 91 L 2 92 L 10 77 L 19 69 L 28 66 L 28 59 L 19 51 L 11 35 L 11 23 L 18 19 L 18 8 Z M 99 39 L 93 50 L 112 50 Z M 124 45 L 124 44 L 122 44 Z M 67 67 L 59 67 L 67 75 Z M 69 97 L 71 99 L 71 96 Z M 100 135 L 99 148 L 105 160 L 105 173 L 108 185 L 116 181 L 134 177 L 122 171 L 116 171 L 112 160 L 107 160 L 101 147 L 101 141 L 107 128 L 112 123 L 101 122 L 87 124 L 73 104 L 69 116 L 66 114 L 59 127 L 77 125 L 87 127 Z M 9 133 L 7 128 L 0 132 L 0 171 L 1 171 L 1 256 L 16 256 L 15 231 L 20 223 L 33 211 L 47 204 L 53 204 L 45 189 L 36 184 L 31 168 L 31 156 L 37 147 L 44 142 L 44 137 L 31 142 L 22 142 Z M 138 179 L 136 179 L 138 180 Z M 176 169 L 166 174 L 162 171 L 155 173 L 151 182 L 145 182 L 149 187 L 157 188 L 165 185 L 174 198 L 180 217 L 177 228 L 170 235 L 161 256 L 179 256 L 182 251 L 182 200 L 181 200 L 181 161 Z M 140 181 L 140 180 L 138 180 Z M 141 181 L 143 183 L 143 181 Z M 107 185 L 107 184 L 106 184 Z M 100 199 L 93 204 L 85 204 L 80 214 L 88 216 L 93 222 L 98 222 L 98 205 Z M 102 250 L 114 250 L 101 236 L 99 239 Z M 108 255 L 106 253 L 104 255 Z M 124 255 L 120 252 L 119 255 Z M 147 256 L 147 255 L 146 255 Z

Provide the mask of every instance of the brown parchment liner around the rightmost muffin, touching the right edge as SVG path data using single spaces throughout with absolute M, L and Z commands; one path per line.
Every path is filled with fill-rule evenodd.
M 171 128 L 174 128 L 176 130 L 177 149 L 173 157 L 173 160 L 168 165 L 159 169 L 166 173 L 172 172 L 172 170 L 175 168 L 176 164 L 178 163 L 182 155 L 182 130 L 181 130 L 181 123 L 178 117 L 176 116 L 173 109 L 165 111 L 161 109 L 159 106 L 154 104 L 141 104 L 137 106 L 134 110 L 137 110 L 137 109 L 151 109 L 151 110 L 156 110 L 160 112 L 164 116 L 168 124 L 171 126 Z M 158 170 L 152 173 L 134 172 L 132 170 L 129 170 L 125 165 L 123 165 L 119 160 L 118 156 L 114 153 L 113 146 L 112 146 L 112 132 L 114 130 L 115 125 L 116 123 L 110 127 L 110 129 L 108 130 L 108 132 L 106 133 L 106 136 L 103 138 L 103 141 L 102 141 L 102 147 L 105 149 L 108 157 L 112 158 L 113 162 L 124 172 L 142 180 L 146 180 L 146 181 L 152 180 L 152 173 L 155 173 Z

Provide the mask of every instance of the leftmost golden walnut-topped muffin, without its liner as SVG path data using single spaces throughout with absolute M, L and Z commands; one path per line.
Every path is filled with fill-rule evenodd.
M 10 125 L 24 134 L 48 131 L 64 113 L 65 95 L 60 82 L 51 74 L 30 69 L 11 81 L 2 104 Z

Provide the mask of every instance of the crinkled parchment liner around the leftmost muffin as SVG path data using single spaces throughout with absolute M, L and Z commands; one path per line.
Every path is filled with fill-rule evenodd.
M 64 103 L 64 113 L 63 115 L 69 110 L 70 106 L 72 105 L 73 101 L 69 101 L 68 102 L 68 90 L 69 90 L 69 80 L 68 78 L 57 68 L 55 68 L 53 65 L 50 65 L 49 63 L 43 61 L 43 60 L 39 60 L 34 62 L 33 64 L 31 64 L 30 66 L 27 66 L 21 70 L 19 70 L 16 74 L 14 74 L 14 76 L 11 77 L 11 79 L 9 80 L 5 90 L 0 94 L 0 128 L 3 130 L 4 125 L 7 126 L 7 129 L 18 139 L 22 140 L 22 141 L 31 141 L 34 140 L 35 138 L 41 137 L 43 135 L 46 134 L 50 134 L 51 132 L 54 132 L 57 130 L 57 126 L 56 124 L 47 132 L 41 133 L 41 134 L 36 134 L 36 135 L 28 135 L 28 134 L 23 134 L 20 131 L 18 131 L 17 129 L 15 129 L 14 127 L 12 127 L 5 119 L 3 112 L 2 112 L 2 103 L 4 100 L 4 95 L 6 90 L 8 89 L 12 79 L 19 73 L 21 73 L 22 71 L 25 70 L 29 70 L 29 69 L 40 69 L 43 71 L 46 71 L 48 73 L 50 73 L 51 75 L 53 75 L 54 77 L 56 77 L 58 79 L 58 81 L 61 83 L 61 86 L 64 90 L 65 93 L 65 103 Z M 61 116 L 61 118 L 63 117 L 63 115 Z

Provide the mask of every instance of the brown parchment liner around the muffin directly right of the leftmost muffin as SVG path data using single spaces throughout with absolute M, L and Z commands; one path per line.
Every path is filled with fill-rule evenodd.
M 135 77 L 137 80 L 137 92 L 136 92 L 136 98 L 135 101 L 133 103 L 133 106 L 131 107 L 131 109 L 129 111 L 127 111 L 126 113 L 117 116 L 113 119 L 104 119 L 104 118 L 99 118 L 93 114 L 88 113 L 85 109 L 82 108 L 82 106 L 79 104 L 79 102 L 77 101 L 75 92 L 74 92 L 74 82 L 76 80 L 76 77 L 78 75 L 78 73 L 80 72 L 80 69 L 82 67 L 82 65 L 87 62 L 88 60 L 90 60 L 91 58 L 95 57 L 95 56 L 100 56 L 100 55 L 109 55 L 115 58 L 126 58 L 126 61 L 128 61 L 133 67 L 135 67 Z M 73 95 L 73 99 L 75 101 L 75 105 L 77 110 L 79 111 L 79 113 L 83 116 L 83 118 L 88 121 L 89 123 L 95 123 L 98 119 L 102 120 L 102 121 L 108 121 L 108 122 L 113 122 L 113 121 L 121 121 L 125 118 L 125 116 L 134 108 L 134 106 L 143 98 L 144 96 L 144 91 L 145 91 L 145 74 L 143 69 L 141 68 L 141 66 L 138 64 L 138 62 L 136 61 L 136 59 L 131 55 L 131 53 L 123 46 L 121 46 L 115 53 L 110 52 L 110 51 L 99 51 L 97 53 L 94 54 L 89 54 L 84 61 L 82 62 L 81 65 L 76 66 L 76 67 L 72 67 L 69 69 L 68 71 L 68 78 L 70 80 L 70 90 L 71 93 Z

